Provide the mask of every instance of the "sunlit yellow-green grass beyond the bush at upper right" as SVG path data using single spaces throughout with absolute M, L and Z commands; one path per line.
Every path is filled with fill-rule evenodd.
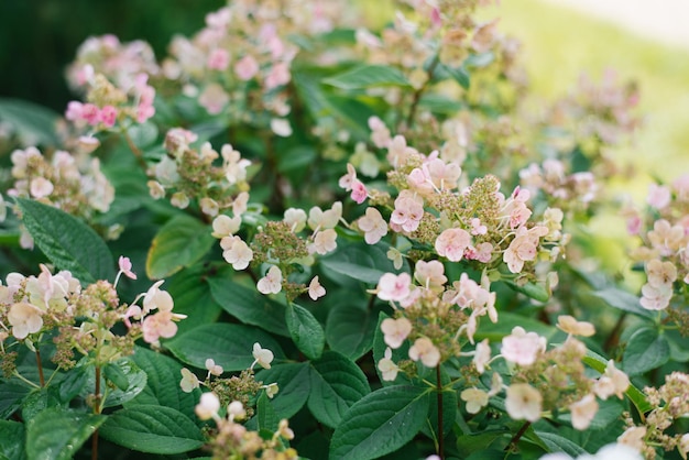
M 570 91 L 582 73 L 613 68 L 641 88 L 644 125 L 614 154 L 648 176 L 627 184 L 643 198 L 649 176 L 672 180 L 689 173 L 689 47 L 666 46 L 615 24 L 538 0 L 503 0 L 485 10 L 500 30 L 522 41 L 533 89 L 551 99 Z

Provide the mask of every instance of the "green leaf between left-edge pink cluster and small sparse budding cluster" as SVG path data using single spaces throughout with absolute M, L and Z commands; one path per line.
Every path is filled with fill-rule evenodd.
M 132 360 L 146 373 L 146 386 L 135 398 L 124 403 L 124 407 L 154 404 L 172 407 L 192 419 L 195 417 L 194 407 L 201 391 L 182 391 L 182 365 L 177 361 L 141 347 L 136 347 Z

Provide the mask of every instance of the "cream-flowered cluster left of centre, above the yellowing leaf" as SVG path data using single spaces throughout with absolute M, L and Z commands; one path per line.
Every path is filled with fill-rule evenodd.
M 207 218 L 230 209 L 239 218 L 249 200 L 247 167 L 251 162 L 229 144 L 220 153 L 209 142 L 195 150 L 190 144 L 196 140 L 196 134 L 181 128 L 167 132 L 167 155 L 149 169 L 151 196 L 161 199 L 169 195 L 172 205 L 179 209 L 196 199 Z M 222 165 L 218 166 L 215 163 L 220 156 Z

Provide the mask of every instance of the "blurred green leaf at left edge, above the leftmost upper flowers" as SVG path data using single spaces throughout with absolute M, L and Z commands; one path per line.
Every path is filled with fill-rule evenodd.
M 24 145 L 57 145 L 59 116 L 46 107 L 20 99 L 0 98 L 0 120 L 12 125 Z

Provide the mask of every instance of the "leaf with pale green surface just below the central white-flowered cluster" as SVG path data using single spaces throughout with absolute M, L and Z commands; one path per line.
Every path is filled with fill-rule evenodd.
M 385 273 L 397 273 L 393 262 L 387 259 L 386 251 L 387 248 L 382 244 L 338 244 L 338 249 L 322 258 L 320 264 L 325 270 L 340 275 L 368 284 L 378 284 Z

